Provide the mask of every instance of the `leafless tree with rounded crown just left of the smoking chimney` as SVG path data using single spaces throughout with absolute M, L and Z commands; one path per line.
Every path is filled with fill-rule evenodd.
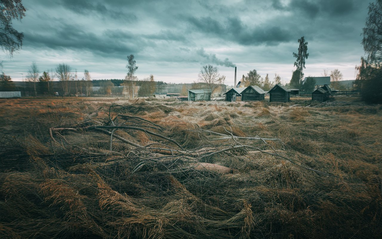
M 197 76 L 199 82 L 206 84 L 211 93 L 225 81 L 225 76 L 219 74 L 219 68 L 212 65 L 202 66 Z

